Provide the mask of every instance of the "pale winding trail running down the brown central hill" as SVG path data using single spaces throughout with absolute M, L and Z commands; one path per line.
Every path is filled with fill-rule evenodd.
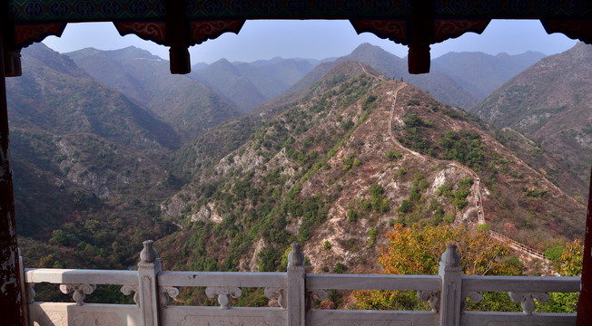
M 363 67 L 362 67 L 362 69 L 363 69 Z M 485 225 L 486 224 L 485 223 L 485 211 L 483 209 L 483 197 L 481 196 L 481 186 L 480 186 L 481 185 L 481 178 L 477 175 L 477 173 L 475 171 L 473 171 L 469 167 L 459 164 L 456 161 L 447 160 L 447 159 L 439 159 L 439 158 L 430 158 L 428 156 L 421 155 L 412 149 L 408 149 L 408 148 L 404 147 L 400 143 L 400 141 L 392 135 L 392 119 L 394 117 L 394 111 L 395 111 L 395 107 L 397 105 L 397 95 L 399 94 L 399 91 L 404 89 L 407 85 L 408 85 L 407 83 L 403 82 L 394 91 L 392 105 L 390 106 L 390 118 L 389 118 L 389 127 L 388 127 L 389 128 L 389 138 L 395 143 L 395 145 L 397 145 L 397 147 L 399 147 L 400 149 L 407 150 L 413 156 L 416 156 L 416 157 L 422 158 L 422 159 L 426 159 L 429 162 L 439 162 L 439 163 L 445 163 L 448 165 L 452 165 L 454 167 L 461 168 L 461 169 L 465 170 L 466 172 L 468 172 L 469 175 L 471 177 L 473 177 L 473 190 L 475 193 L 475 197 L 473 198 L 473 203 L 475 204 L 475 207 L 477 208 L 478 225 Z M 544 262 L 548 262 L 547 258 L 545 258 L 545 254 L 529 247 L 528 245 L 520 244 L 520 243 L 518 243 L 518 241 L 515 241 L 506 235 L 501 235 L 495 231 L 489 230 L 488 236 L 491 237 L 492 239 L 496 239 L 500 242 L 504 242 L 504 243 L 508 244 L 511 248 L 513 248 L 514 250 L 517 250 L 518 252 L 520 252 L 522 254 L 528 254 L 531 257 L 535 257 L 535 258 L 543 260 Z

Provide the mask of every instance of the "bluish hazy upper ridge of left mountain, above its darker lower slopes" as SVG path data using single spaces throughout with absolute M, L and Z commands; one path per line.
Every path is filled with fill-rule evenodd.
M 169 149 L 179 146 L 171 125 L 96 82 L 67 56 L 40 43 L 27 48 L 23 57 L 25 77 L 10 79 L 7 85 L 15 126 L 95 133 L 139 149 L 150 147 L 146 140 Z

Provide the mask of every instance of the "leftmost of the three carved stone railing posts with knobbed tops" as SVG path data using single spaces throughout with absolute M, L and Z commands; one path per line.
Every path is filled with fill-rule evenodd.
M 162 270 L 161 259 L 158 258 L 153 240 L 146 240 L 143 244 L 138 263 L 138 296 L 143 326 L 158 326 L 158 284 L 156 277 Z

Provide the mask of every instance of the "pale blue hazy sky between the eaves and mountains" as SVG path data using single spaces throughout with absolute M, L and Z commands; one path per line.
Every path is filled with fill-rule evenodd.
M 86 47 L 115 50 L 136 46 L 168 60 L 168 48 L 143 41 L 134 35 L 120 36 L 111 23 L 68 24 L 61 38 L 47 37 L 44 43 L 60 53 Z M 324 59 L 349 54 L 360 43 L 379 45 L 399 57 L 407 55 L 407 47 L 382 40 L 374 34 L 356 34 L 348 21 L 247 21 L 237 34 L 222 34 L 215 40 L 192 46 L 192 64 L 212 63 L 221 58 L 229 61 L 253 62 L 259 59 L 283 58 Z M 525 53 L 528 50 L 545 54 L 566 51 L 576 41 L 563 34 L 547 34 L 538 21 L 495 20 L 481 35 L 467 33 L 457 39 L 431 46 L 431 56 L 449 52 L 489 54 Z

